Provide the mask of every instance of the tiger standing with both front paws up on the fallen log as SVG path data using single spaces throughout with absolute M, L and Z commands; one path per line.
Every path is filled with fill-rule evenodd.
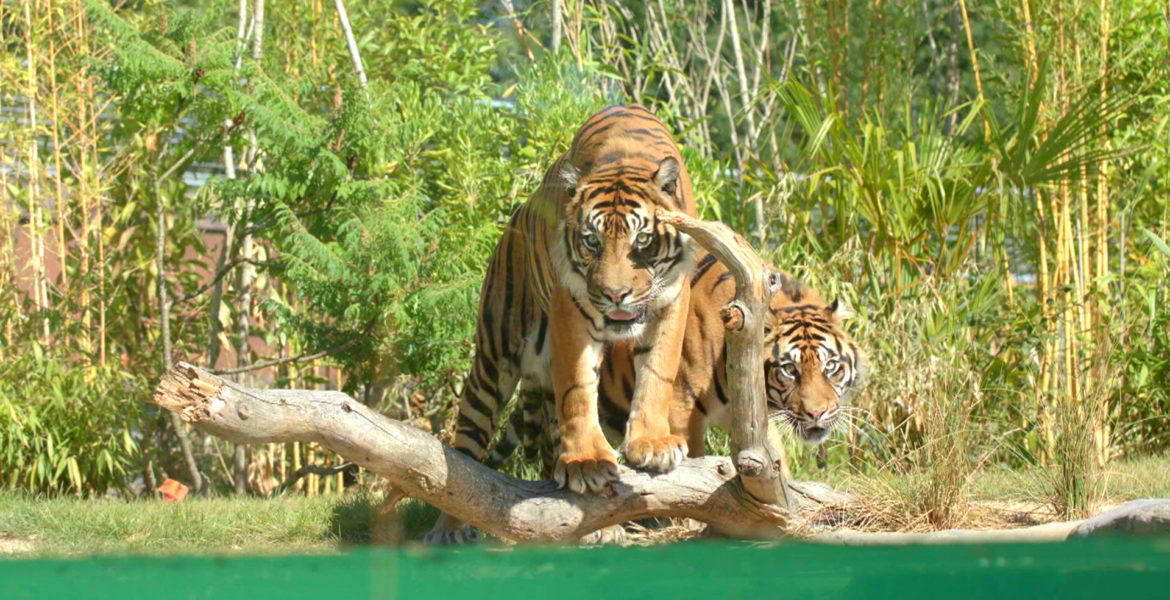
M 626 460 L 666 471 L 686 456 L 668 416 L 694 264 L 687 237 L 659 223 L 658 208 L 695 214 L 670 133 L 641 106 L 598 111 L 493 253 L 456 449 L 486 458 L 500 408 L 519 384 L 553 398 L 557 483 L 604 490 L 617 478 L 617 455 L 599 422 L 598 372 L 608 346 L 629 344 L 638 386 L 622 427 Z M 427 538 L 461 542 L 470 531 L 443 515 Z

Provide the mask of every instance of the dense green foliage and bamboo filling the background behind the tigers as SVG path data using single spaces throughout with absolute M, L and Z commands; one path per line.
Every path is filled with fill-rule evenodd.
M 32 234 L 53 246 L 60 227 L 73 281 L 50 282 L 49 306 L 27 297 L 27 258 L 11 234 L 37 199 L 29 175 L 5 171 L 18 205 L 0 219 L 5 485 L 102 491 L 124 485 L 144 458 L 174 470 L 170 434 L 143 415 L 163 364 L 160 218 L 170 295 L 192 292 L 172 310 L 174 358 L 207 357 L 214 329 L 248 315 L 271 356 L 324 353 L 317 365 L 339 367 L 347 391 L 421 409 L 418 422 L 441 432 L 508 215 L 587 115 L 624 102 L 654 106 L 675 131 L 703 216 L 762 233 L 777 265 L 852 306 L 872 377 L 830 464 L 914 478 L 903 505 L 945 522 L 937 510 L 963 485 L 963 461 L 1032 464 L 1053 458 L 1045 448 L 1057 441 L 1072 444 L 1060 447 L 1066 458 L 1089 460 L 1085 440 L 1049 439 L 1039 423 L 1051 413 L 1083 432 L 1096 416 L 1061 413 L 1068 399 L 1039 392 L 1040 380 L 1101 373 L 1115 385 L 1078 398 L 1103 399 L 1113 451 L 1170 446 L 1170 92 L 1154 0 L 1115 2 L 1109 15 L 1085 5 L 1059 22 L 1041 12 L 1034 23 L 1014 5 L 969 6 L 966 23 L 941 0 L 780 1 L 768 15 L 765 4 L 742 2 L 732 7 L 741 40 L 710 4 L 569 2 L 557 53 L 542 48 L 546 4 L 519 6 L 521 29 L 473 0 L 353 5 L 366 87 L 325 5 L 269 11 L 262 58 L 239 67 L 234 6 L 83 6 L 90 37 L 37 23 L 26 32 L 7 7 L 0 19 L 11 50 L 0 95 L 13 106 L 25 105 L 29 74 L 9 57 L 48 40 L 77 48 L 42 87 L 39 127 L 2 122 L 6 164 L 23 166 L 29 142 L 46 157 L 56 144 L 50 99 L 104 106 L 92 147 L 77 144 L 84 160 L 67 154 L 50 168 L 41 159 L 41 194 L 66 188 L 41 208 L 68 206 Z M 1102 16 L 1112 19 L 1108 60 L 1097 64 Z M 47 78 L 43 67 L 34 75 Z M 225 146 L 239 177 L 191 186 L 218 168 Z M 1083 282 L 1083 298 L 1066 295 L 1072 275 L 1041 297 L 1035 282 L 1054 268 L 1059 222 L 1054 205 L 1037 200 L 1087 202 L 1078 199 L 1095 193 L 1099 174 L 1109 275 Z M 254 235 L 252 305 L 241 305 L 238 271 L 223 278 L 222 305 L 201 288 L 218 257 L 205 242 L 220 239 L 200 229 L 208 222 L 232 230 L 225 257 L 235 265 L 240 237 Z M 1089 230 L 1069 235 L 1066 248 L 1097 243 Z M 1089 304 L 1102 331 L 1078 333 L 1104 356 L 1074 352 L 1076 365 L 1095 366 L 1066 371 L 1061 349 L 1078 336 L 1055 329 L 1055 316 Z M 1042 360 L 1057 366 L 1041 373 Z M 34 371 L 48 374 L 26 377 Z M 317 382 L 289 368 L 276 377 Z M 37 400 L 54 394 L 70 400 Z M 91 441 L 75 409 L 97 423 Z M 201 470 L 218 474 L 204 450 Z M 1092 483 L 1085 471 L 1047 469 L 1057 475 L 1046 489 L 1064 485 L 1066 498 Z

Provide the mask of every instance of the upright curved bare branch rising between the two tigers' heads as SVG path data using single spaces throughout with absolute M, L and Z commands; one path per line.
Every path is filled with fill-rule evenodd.
M 731 394 L 731 456 L 748 490 L 759 502 L 789 506 L 780 454 L 768 442 L 764 399 L 764 324 L 779 276 L 730 227 L 682 213 L 659 212 L 659 221 L 691 236 L 728 267 L 735 297 L 720 312 L 727 326 L 727 378 Z

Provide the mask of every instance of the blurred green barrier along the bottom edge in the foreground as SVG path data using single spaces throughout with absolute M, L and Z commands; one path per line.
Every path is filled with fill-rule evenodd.
M 1170 599 L 1170 538 L 842 547 L 363 550 L 0 561 L 0 599 Z

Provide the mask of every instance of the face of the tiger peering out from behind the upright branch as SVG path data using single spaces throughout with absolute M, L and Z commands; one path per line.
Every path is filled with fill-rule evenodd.
M 787 421 L 807 443 L 824 442 L 861 368 L 856 346 L 840 327 L 838 302 L 773 305 L 766 339 L 771 416 Z

